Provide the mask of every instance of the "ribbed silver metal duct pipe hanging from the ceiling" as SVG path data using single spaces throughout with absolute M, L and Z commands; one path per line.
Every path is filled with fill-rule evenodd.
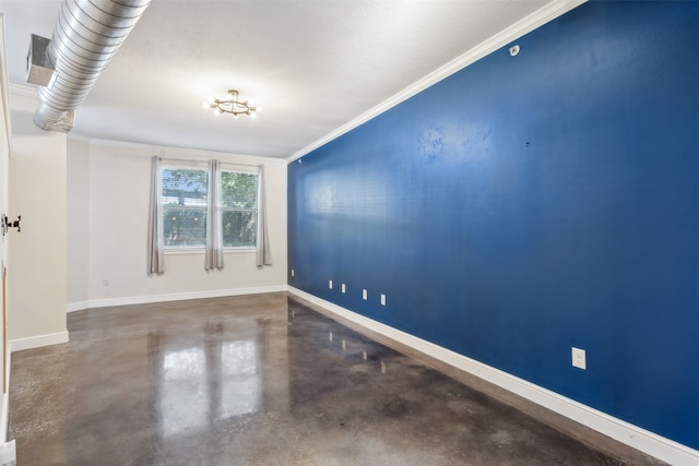
M 38 87 L 37 127 L 68 132 L 85 100 L 151 0 L 63 0 L 48 58 L 56 73 Z M 69 113 L 70 112 L 70 113 Z

